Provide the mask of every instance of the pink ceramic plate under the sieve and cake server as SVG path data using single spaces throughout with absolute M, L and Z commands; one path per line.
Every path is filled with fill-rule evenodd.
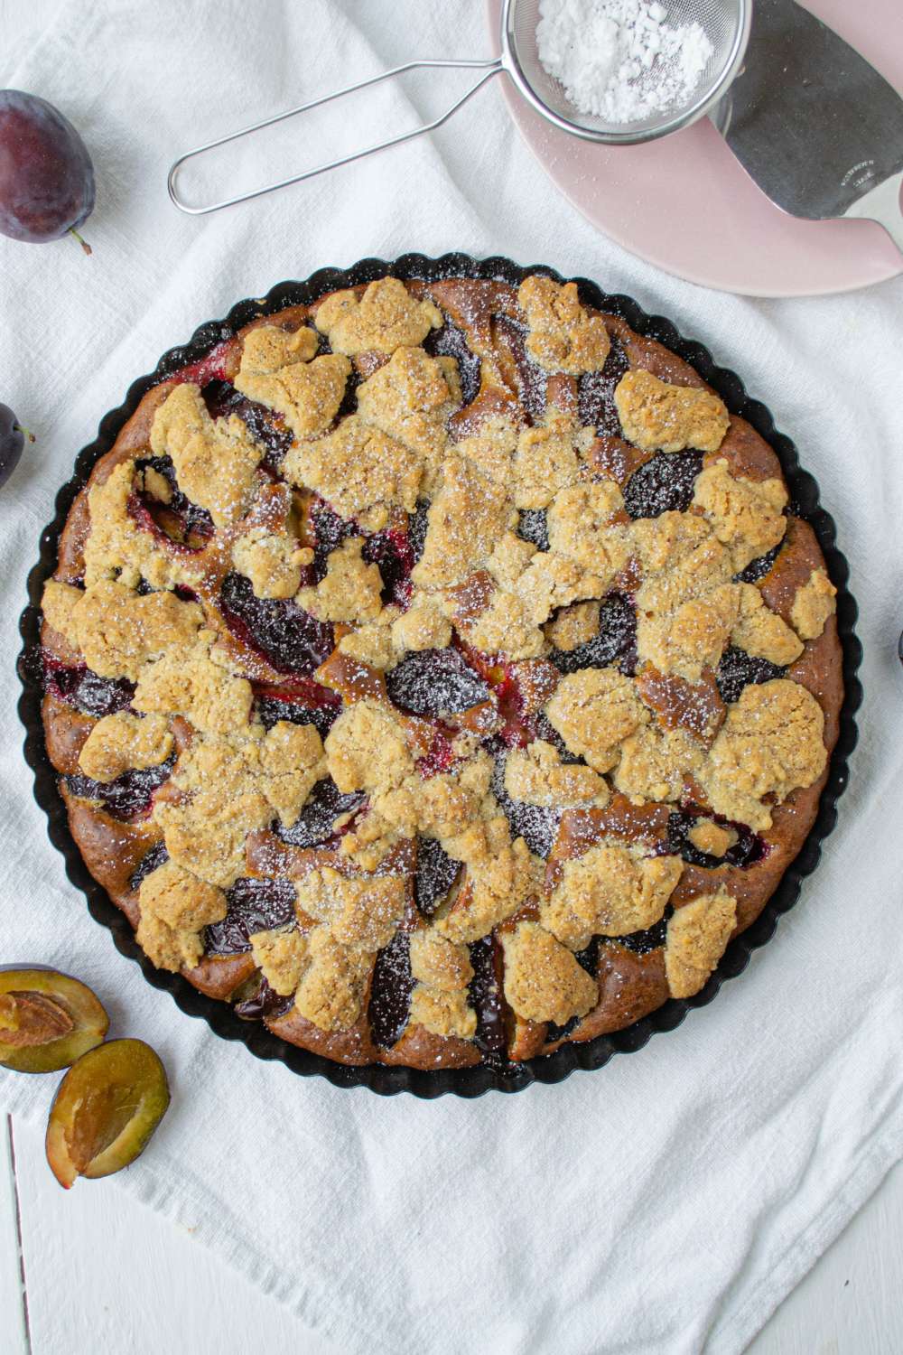
M 808 0 L 807 8 L 903 89 L 900 0 Z M 498 50 L 501 0 L 487 0 Z M 689 282 L 753 297 L 850 291 L 903 272 L 873 221 L 800 221 L 755 187 L 708 118 L 643 146 L 600 146 L 550 126 L 502 81 L 527 145 L 583 215 Z

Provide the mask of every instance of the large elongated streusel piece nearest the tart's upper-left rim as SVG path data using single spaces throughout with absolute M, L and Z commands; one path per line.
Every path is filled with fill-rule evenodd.
M 206 508 L 217 527 L 246 511 L 260 462 L 260 443 L 244 421 L 207 413 L 200 390 L 190 381 L 175 386 L 157 409 L 150 427 L 157 457 L 172 457 L 179 488 Z

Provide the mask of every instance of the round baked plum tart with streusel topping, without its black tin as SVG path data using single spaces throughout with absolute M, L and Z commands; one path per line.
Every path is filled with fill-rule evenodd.
M 770 446 L 543 274 L 384 276 L 141 398 L 43 593 L 72 836 L 154 966 L 341 1064 L 709 981 L 814 824 L 835 588 Z

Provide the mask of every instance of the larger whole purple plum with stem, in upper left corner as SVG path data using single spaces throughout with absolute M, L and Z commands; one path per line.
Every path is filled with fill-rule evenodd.
M 38 95 L 0 89 L 0 232 L 60 240 L 93 205 L 93 165 L 69 119 Z

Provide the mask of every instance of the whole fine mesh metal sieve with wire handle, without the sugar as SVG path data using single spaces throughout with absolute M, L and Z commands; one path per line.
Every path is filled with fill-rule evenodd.
M 727 91 L 731 80 L 741 68 L 743 53 L 746 51 L 753 15 L 753 0 L 670 0 L 667 4 L 667 22 L 674 26 L 699 23 L 712 45 L 712 56 L 700 76 L 699 84 L 693 88 L 684 103 L 676 103 L 665 110 L 657 111 L 654 117 L 625 123 L 605 122 L 604 118 L 579 112 L 565 93 L 563 85 L 556 79 L 550 76 L 543 68 L 536 47 L 539 8 L 540 0 L 504 0 L 501 14 L 500 57 L 490 60 L 406 61 L 403 65 L 395 66 L 393 70 L 384 70 L 378 76 L 371 76 L 368 80 L 361 80 L 353 85 L 345 85 L 344 89 L 334 89 L 332 93 L 322 95 L 318 99 L 311 99 L 309 103 L 299 104 L 296 108 L 288 108 L 286 112 L 279 112 L 272 118 L 264 118 L 261 122 L 256 122 L 249 127 L 242 127 L 240 131 L 232 131 L 225 137 L 218 137 L 215 141 L 208 141 L 203 146 L 195 146 L 194 150 L 188 150 L 184 156 L 180 156 L 169 169 L 167 179 L 169 196 L 181 211 L 187 211 L 190 215 L 203 215 L 208 211 L 218 211 L 221 207 L 232 207 L 238 202 L 248 202 L 250 198 L 260 198 L 263 194 L 273 192 L 276 188 L 286 188 L 288 184 L 301 183 L 305 179 L 313 179 L 315 175 L 325 173 L 329 169 L 337 169 L 340 165 L 351 164 L 355 160 L 361 160 L 364 156 L 370 156 L 376 150 L 386 150 L 389 146 L 398 146 L 405 141 L 412 141 L 414 137 L 418 137 L 425 131 L 433 131 L 444 122 L 448 122 L 448 119 L 458 112 L 458 110 L 467 103 L 467 100 L 471 99 L 478 89 L 482 89 L 482 87 L 491 80 L 493 76 L 502 73 L 513 81 L 524 99 L 527 99 L 543 118 L 554 123 L 556 127 L 560 127 L 562 131 L 569 131 L 571 136 L 582 137 L 585 141 L 600 141 L 607 145 L 634 145 L 639 141 L 653 141 L 657 137 L 663 137 L 670 131 L 678 131 L 681 127 L 688 127 L 692 122 L 696 122 L 696 119 L 708 112 L 708 110 L 712 108 Z M 662 58 L 659 57 L 657 60 L 661 61 Z M 265 184 L 261 188 L 252 188 L 248 192 L 240 192 L 232 198 L 222 198 L 218 202 L 192 205 L 185 202 L 179 195 L 179 172 L 190 160 L 195 160 L 230 141 L 238 141 L 242 137 L 253 136 L 256 131 L 263 131 L 264 127 L 272 127 L 279 122 L 284 122 L 287 118 L 296 118 L 302 112 L 320 108 L 326 103 L 332 103 L 345 95 L 355 93 L 359 89 L 367 89 L 371 85 L 393 80 L 397 76 L 405 75 L 408 70 L 422 69 L 478 70 L 479 79 L 470 87 L 470 89 L 456 99 L 451 107 L 445 108 L 445 111 L 432 122 L 425 122 L 418 127 L 412 127 L 409 131 L 402 131 L 397 137 L 374 142 L 360 150 L 353 150 L 334 160 L 314 165 L 311 169 L 305 169 L 301 173 L 279 179 L 276 183 Z

